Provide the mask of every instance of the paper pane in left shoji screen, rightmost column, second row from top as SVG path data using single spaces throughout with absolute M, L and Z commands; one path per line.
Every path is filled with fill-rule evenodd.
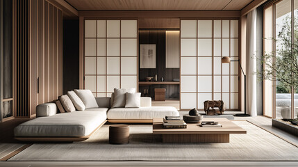
M 137 39 L 121 39 L 121 56 L 137 56 Z

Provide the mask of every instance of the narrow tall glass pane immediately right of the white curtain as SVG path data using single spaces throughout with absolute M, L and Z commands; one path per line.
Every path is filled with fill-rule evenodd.
M 264 10 L 264 54 L 272 54 L 272 6 Z M 272 63 L 273 60 L 269 60 L 268 63 Z M 264 68 L 267 68 L 264 65 Z M 272 86 L 273 81 L 270 79 L 265 79 L 263 81 L 264 86 L 264 116 L 272 118 L 273 108 L 272 108 Z

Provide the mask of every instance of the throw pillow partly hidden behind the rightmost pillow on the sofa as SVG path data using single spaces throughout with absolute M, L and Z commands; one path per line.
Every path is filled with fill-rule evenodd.
M 135 93 L 135 88 L 118 89 L 114 88 L 114 102 L 112 108 L 125 107 L 126 93 Z

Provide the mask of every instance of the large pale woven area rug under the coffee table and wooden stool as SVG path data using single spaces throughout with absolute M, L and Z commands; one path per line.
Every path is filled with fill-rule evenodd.
M 298 148 L 246 121 L 230 143 L 161 143 L 152 125 L 131 125 L 130 143 L 108 144 L 108 125 L 77 143 L 35 143 L 8 161 L 298 161 Z

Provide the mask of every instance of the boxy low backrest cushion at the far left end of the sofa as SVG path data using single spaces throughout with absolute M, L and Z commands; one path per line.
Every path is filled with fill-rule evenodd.
M 57 106 L 53 102 L 36 106 L 36 117 L 53 116 L 57 113 Z

